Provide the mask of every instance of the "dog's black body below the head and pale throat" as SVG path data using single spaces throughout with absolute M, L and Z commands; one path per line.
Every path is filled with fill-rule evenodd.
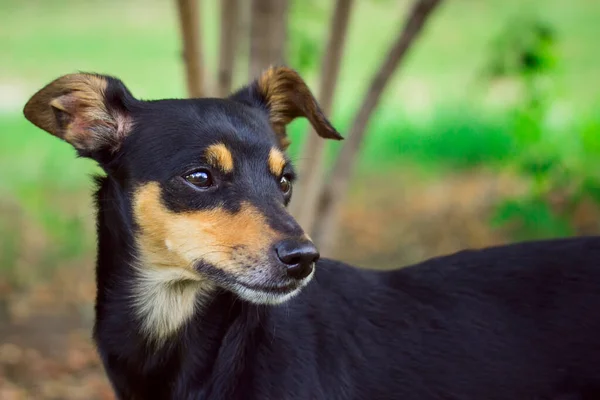
M 294 300 L 223 292 L 159 351 L 107 298 L 96 338 L 123 398 L 597 400 L 599 265 L 596 238 L 391 272 L 322 260 Z

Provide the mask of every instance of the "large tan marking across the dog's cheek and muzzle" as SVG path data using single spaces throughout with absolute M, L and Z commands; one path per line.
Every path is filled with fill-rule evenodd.
M 237 213 L 224 209 L 175 213 L 161 202 L 157 183 L 137 190 L 134 214 L 144 262 L 155 267 L 194 271 L 205 261 L 229 274 L 243 272 L 249 258 L 259 258 L 279 236 L 250 204 Z M 254 260 L 258 261 L 258 260 Z

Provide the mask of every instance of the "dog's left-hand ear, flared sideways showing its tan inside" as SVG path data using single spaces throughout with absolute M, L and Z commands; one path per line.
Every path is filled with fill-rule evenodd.
M 121 81 L 103 75 L 70 74 L 34 94 L 23 113 L 34 125 L 70 143 L 87 157 L 119 149 L 132 128 L 135 101 Z

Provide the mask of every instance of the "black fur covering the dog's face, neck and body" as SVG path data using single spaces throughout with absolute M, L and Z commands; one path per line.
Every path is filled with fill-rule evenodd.
M 94 338 L 120 399 L 600 399 L 594 237 L 464 251 L 390 272 L 322 259 L 287 303 L 255 305 L 220 290 L 165 344 L 149 344 L 131 307 L 137 185 L 159 182 L 175 212 L 235 212 L 244 200 L 279 231 L 299 227 L 278 211 L 287 200 L 256 161 L 276 139 L 265 103 L 252 106 L 255 86 L 230 100 L 140 102 L 110 85 L 135 128 L 116 154 L 87 156 L 108 174 L 96 196 Z M 176 178 L 216 140 L 237 156 L 237 175 L 222 177 L 234 183 L 206 196 L 186 190 Z

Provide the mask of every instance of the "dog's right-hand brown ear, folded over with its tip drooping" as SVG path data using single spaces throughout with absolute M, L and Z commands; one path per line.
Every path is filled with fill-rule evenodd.
M 323 114 L 308 85 L 296 71 L 271 67 L 249 86 L 234 93 L 231 99 L 266 109 L 277 134 L 279 145 L 289 145 L 285 127 L 298 117 L 308 119 L 317 134 L 327 139 L 343 139 Z

